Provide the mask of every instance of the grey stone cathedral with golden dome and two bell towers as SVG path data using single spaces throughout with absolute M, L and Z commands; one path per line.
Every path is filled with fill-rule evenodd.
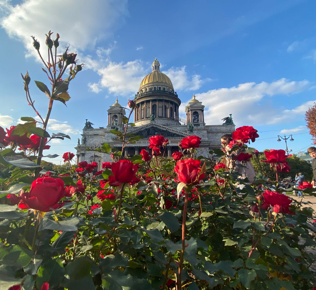
M 179 142 L 187 136 L 196 135 L 201 139 L 201 144 L 197 148 L 197 156 L 208 156 L 213 148 L 221 147 L 221 136 L 226 133 L 232 133 L 235 125 L 231 117 L 225 118 L 222 125 L 206 125 L 204 122 L 204 105 L 199 102 L 193 94 L 192 100 L 185 106 L 186 118 L 179 117 L 179 106 L 181 100 L 177 92 L 174 91 L 170 78 L 160 71 L 160 63 L 157 58 L 152 64 L 152 72 L 146 75 L 140 83 L 137 94 L 134 99 L 137 107 L 134 110 L 135 127 L 128 127 L 127 133 L 141 135 L 135 144 L 127 144 L 124 155 L 134 156 L 146 149 L 149 154 L 148 138 L 153 135 L 162 135 L 169 140 L 165 156 L 171 157 L 174 151 L 179 151 Z M 82 130 L 82 139 L 78 139 L 78 145 L 75 147 L 77 153 L 77 163 L 93 161 L 98 163 L 98 170 L 101 169 L 102 162 L 112 161 L 111 155 L 95 151 L 86 151 L 85 149 L 95 149 L 108 143 L 112 148 L 122 149 L 122 143 L 116 141 L 116 136 L 111 133 L 111 129 L 123 131 L 122 117 L 126 116 L 118 99 L 107 110 L 107 126 L 94 128 L 91 122 L 86 120 L 85 127 Z

